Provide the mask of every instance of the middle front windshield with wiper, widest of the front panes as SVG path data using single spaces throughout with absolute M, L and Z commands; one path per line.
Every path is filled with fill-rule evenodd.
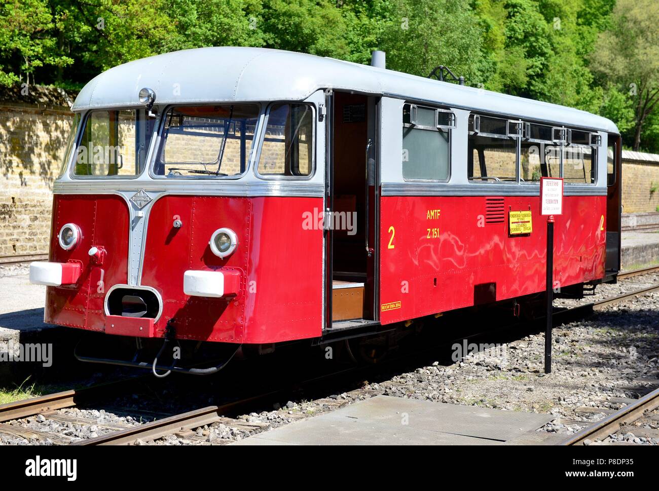
M 164 177 L 243 174 L 258 115 L 256 104 L 169 109 L 154 173 Z

